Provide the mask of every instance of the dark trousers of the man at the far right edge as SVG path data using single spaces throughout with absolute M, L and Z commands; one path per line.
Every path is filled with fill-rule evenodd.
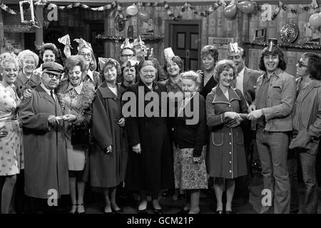
M 318 150 L 318 148 L 316 148 Z M 291 210 L 299 209 L 299 192 L 297 186 L 297 160 L 302 167 L 302 177 L 305 183 L 305 201 L 302 213 L 317 214 L 317 174 L 315 163 L 317 155 L 307 149 L 291 150 L 288 168 L 291 182 Z

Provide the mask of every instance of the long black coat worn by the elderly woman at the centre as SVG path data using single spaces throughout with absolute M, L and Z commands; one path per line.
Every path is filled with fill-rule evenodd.
M 129 142 L 131 147 L 141 143 L 142 151 L 141 154 L 137 154 L 131 150 L 128 154 L 126 186 L 133 190 L 148 192 L 173 188 L 173 150 L 168 138 L 168 118 L 161 116 L 161 110 L 164 108 L 161 100 L 158 103 L 159 116 L 148 117 L 144 110 L 147 110 L 146 106 L 151 105 L 153 101 L 146 100 L 144 97 L 151 90 L 139 81 L 129 86 L 128 92 L 135 94 L 137 99 L 136 117 L 126 118 Z M 143 96 L 140 97 L 141 92 Z M 161 98 L 161 93 L 167 93 L 165 85 L 153 81 L 153 93 Z M 158 105 L 154 107 L 157 108 Z

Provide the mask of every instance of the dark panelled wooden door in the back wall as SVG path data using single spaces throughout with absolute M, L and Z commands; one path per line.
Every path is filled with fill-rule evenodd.
M 198 24 L 170 24 L 168 47 L 183 60 L 183 71 L 199 69 L 200 26 Z

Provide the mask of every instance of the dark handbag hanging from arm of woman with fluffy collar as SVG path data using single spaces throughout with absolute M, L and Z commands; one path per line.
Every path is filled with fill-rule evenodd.
M 71 128 L 71 145 L 86 146 L 91 144 L 91 129 L 86 125 L 73 125 Z

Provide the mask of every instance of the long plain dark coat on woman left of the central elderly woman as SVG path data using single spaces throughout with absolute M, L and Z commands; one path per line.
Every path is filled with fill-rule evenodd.
M 93 145 L 89 152 L 90 182 L 94 187 L 116 187 L 125 178 L 127 164 L 127 145 L 124 128 L 118 125 L 122 118 L 121 93 L 108 88 L 106 81 L 98 86 L 93 100 L 91 134 Z M 112 152 L 103 150 L 112 146 Z

